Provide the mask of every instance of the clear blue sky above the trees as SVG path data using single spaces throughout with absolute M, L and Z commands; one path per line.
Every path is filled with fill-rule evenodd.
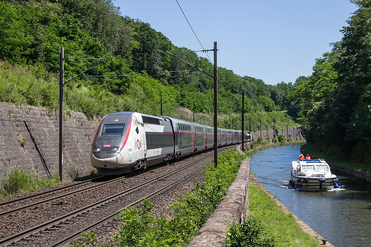
M 357 7 L 349 0 L 178 0 L 205 49 L 218 42 L 218 66 L 266 84 L 312 73 L 315 59 L 341 40 Z M 175 0 L 116 0 L 123 16 L 140 19 L 174 45 L 202 50 Z M 202 53 L 199 53 L 202 55 Z M 213 59 L 213 52 L 209 52 Z

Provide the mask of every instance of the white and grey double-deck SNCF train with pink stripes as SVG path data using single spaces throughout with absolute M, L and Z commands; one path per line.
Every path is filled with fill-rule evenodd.
M 251 135 L 244 132 L 244 140 Z M 218 128 L 218 146 L 240 143 L 241 130 Z M 105 116 L 96 130 L 91 164 L 98 175 L 116 175 L 214 147 L 214 127 L 137 112 Z

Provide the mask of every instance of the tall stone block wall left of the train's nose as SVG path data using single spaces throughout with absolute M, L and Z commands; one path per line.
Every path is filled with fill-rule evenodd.
M 23 116 L 23 113 L 24 116 Z M 26 120 L 29 128 L 26 127 Z M 68 166 L 75 164 L 79 176 L 89 174 L 91 144 L 100 119 L 89 120 L 83 113 L 65 115 L 63 173 L 68 178 Z M 43 107 L 0 103 L 0 179 L 15 167 L 39 177 L 47 177 L 36 144 L 45 158 L 50 173 L 59 173 L 59 114 Z

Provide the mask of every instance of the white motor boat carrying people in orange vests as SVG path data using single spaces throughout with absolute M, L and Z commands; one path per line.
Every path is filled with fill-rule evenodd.
M 329 190 L 339 188 L 338 178 L 331 173 L 330 167 L 324 159 L 291 161 L 292 188 L 304 190 Z

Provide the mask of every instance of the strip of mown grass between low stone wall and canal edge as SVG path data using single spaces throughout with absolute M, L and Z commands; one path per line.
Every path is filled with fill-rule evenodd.
M 301 230 L 292 214 L 286 214 L 264 191 L 249 185 L 249 217 L 262 221 L 269 234 L 276 234 L 276 247 L 319 247 L 318 240 Z

